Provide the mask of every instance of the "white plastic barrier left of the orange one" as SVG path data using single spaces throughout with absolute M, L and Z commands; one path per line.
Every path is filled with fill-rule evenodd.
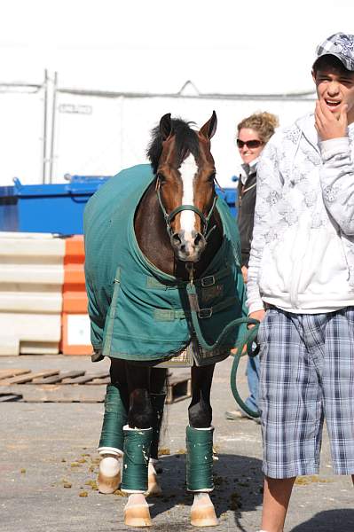
M 0 232 L 0 355 L 57 354 L 65 240 Z

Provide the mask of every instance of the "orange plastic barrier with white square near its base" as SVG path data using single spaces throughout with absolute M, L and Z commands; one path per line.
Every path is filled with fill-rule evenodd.
M 60 351 L 64 355 L 90 355 L 90 319 L 83 274 L 83 235 L 66 239 Z

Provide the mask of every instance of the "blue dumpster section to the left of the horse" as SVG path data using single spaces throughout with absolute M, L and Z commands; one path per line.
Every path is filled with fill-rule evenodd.
M 0 231 L 83 234 L 83 209 L 109 176 L 71 176 L 69 183 L 0 187 Z

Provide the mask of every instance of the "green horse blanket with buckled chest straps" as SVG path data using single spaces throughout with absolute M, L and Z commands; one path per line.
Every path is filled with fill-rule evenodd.
M 166 275 L 138 247 L 134 215 L 154 179 L 150 165 L 124 169 L 98 189 L 83 216 L 85 277 L 91 342 L 103 356 L 163 361 L 195 340 L 185 281 Z M 201 279 L 195 281 L 199 324 L 213 343 L 237 317 L 247 317 L 240 272 L 240 238 L 229 207 L 216 208 L 224 242 Z M 226 335 L 218 349 L 238 347 L 246 325 Z

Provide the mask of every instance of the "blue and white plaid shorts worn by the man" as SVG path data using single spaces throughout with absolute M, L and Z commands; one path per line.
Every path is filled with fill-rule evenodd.
M 264 473 L 319 473 L 323 421 L 334 473 L 354 473 L 354 307 L 268 309 L 259 329 Z

